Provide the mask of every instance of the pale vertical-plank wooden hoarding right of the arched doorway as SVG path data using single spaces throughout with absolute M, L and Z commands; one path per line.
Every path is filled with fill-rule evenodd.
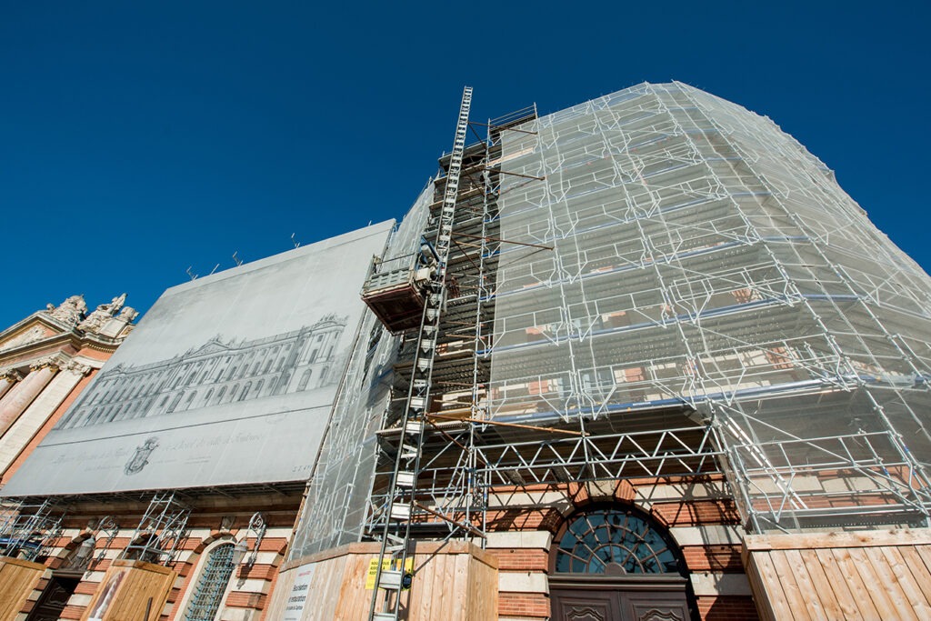
M 931 530 L 749 534 L 764 620 L 931 619 Z

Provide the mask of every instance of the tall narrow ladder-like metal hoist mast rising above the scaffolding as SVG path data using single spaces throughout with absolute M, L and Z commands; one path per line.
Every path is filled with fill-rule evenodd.
M 430 383 L 433 377 L 433 362 L 436 356 L 439 318 L 442 313 L 446 287 L 446 267 L 452 244 L 452 218 L 459 196 L 459 175 L 462 170 L 463 154 L 466 150 L 469 108 L 472 105 L 472 88 L 463 90 L 456 122 L 456 135 L 452 143 L 450 167 L 446 175 L 446 189 L 440 208 L 437 242 L 436 270 L 427 285 L 424 313 L 412 366 L 411 384 L 407 401 L 400 420 L 401 441 L 395 457 L 394 473 L 388 486 L 384 507 L 384 526 L 381 533 L 381 548 L 375 569 L 375 583 L 371 594 L 369 619 L 371 621 L 396 621 L 400 612 L 401 590 L 410 587 L 411 574 L 407 571 L 408 544 L 411 540 L 411 520 L 416 505 L 417 473 L 420 468 L 421 445 L 424 440 L 425 415 L 430 398 Z M 382 606 L 378 596 L 385 594 Z M 381 610 L 377 610 L 381 608 Z

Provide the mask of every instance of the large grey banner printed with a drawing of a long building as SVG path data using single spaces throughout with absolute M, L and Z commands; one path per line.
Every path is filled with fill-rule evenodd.
M 393 225 L 167 290 L 4 495 L 306 479 Z

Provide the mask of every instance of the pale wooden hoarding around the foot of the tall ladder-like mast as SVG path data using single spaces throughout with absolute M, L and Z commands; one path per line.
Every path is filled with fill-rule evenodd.
M 373 589 L 367 578 L 377 557 L 377 544 L 352 544 L 290 562 L 278 576 L 265 618 L 368 618 Z M 498 618 L 498 563 L 488 552 L 462 542 L 418 542 L 411 561 L 412 587 L 401 595 L 408 621 Z

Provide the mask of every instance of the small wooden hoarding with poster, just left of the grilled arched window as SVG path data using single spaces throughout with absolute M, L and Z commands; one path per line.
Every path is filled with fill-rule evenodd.
M 177 575 L 162 565 L 114 560 L 81 621 L 157 621 Z

